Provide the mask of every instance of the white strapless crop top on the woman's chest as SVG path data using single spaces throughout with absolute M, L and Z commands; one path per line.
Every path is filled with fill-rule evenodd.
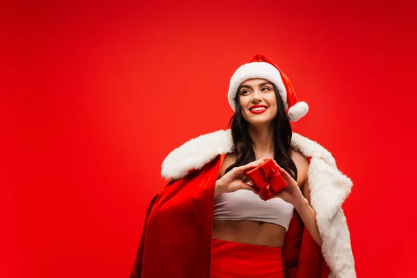
M 279 224 L 288 230 L 294 206 L 278 197 L 264 201 L 250 190 L 222 193 L 214 198 L 213 220 L 254 220 Z

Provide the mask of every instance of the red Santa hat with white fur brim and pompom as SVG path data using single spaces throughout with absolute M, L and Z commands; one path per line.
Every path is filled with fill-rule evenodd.
M 284 101 L 286 114 L 288 120 L 291 122 L 297 122 L 309 112 L 309 106 L 304 101 L 297 101 L 297 96 L 293 85 L 290 80 L 279 70 L 279 67 L 275 65 L 272 60 L 263 54 L 256 54 L 252 59 L 249 60 L 245 65 L 241 65 L 238 70 L 231 76 L 228 99 L 229 104 L 233 111 L 235 111 L 236 93 L 240 84 L 247 79 L 267 79 L 277 86 L 279 95 Z

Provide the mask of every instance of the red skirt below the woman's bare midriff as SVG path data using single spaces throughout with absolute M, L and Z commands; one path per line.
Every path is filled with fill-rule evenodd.
M 282 249 L 213 238 L 211 278 L 284 278 Z

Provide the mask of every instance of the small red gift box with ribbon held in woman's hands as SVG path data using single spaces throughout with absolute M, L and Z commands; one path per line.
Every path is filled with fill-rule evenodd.
M 258 190 L 264 201 L 288 186 L 277 165 L 270 158 L 258 167 L 246 171 L 245 176 Z

